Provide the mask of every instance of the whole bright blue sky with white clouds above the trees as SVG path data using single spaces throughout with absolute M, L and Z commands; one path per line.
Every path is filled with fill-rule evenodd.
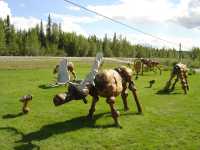
M 72 0 L 91 10 L 117 19 L 174 43 L 182 43 L 185 50 L 200 46 L 199 0 Z M 53 21 L 62 24 L 64 31 L 75 31 L 89 36 L 112 36 L 114 32 L 132 43 L 156 47 L 174 47 L 152 37 L 145 36 L 102 17 L 81 10 L 64 0 L 0 0 L 0 17 L 11 16 L 19 29 L 35 26 L 48 14 Z

